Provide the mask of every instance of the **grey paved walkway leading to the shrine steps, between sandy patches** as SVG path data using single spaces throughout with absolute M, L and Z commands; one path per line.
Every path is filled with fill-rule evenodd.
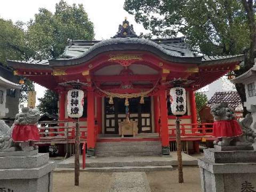
M 151 192 L 145 172 L 114 173 L 108 192 Z

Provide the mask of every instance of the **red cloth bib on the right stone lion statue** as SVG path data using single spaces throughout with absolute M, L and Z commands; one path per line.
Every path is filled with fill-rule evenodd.
M 216 121 L 213 124 L 213 136 L 215 137 L 236 137 L 243 134 L 237 120 Z

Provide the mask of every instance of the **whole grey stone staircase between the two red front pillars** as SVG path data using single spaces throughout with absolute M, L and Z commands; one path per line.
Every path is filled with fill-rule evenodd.
M 97 142 L 96 157 L 161 155 L 160 141 Z

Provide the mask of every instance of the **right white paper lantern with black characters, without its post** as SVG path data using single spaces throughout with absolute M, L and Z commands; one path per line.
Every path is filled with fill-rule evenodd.
M 186 114 L 186 90 L 182 87 L 174 87 L 170 90 L 172 114 Z

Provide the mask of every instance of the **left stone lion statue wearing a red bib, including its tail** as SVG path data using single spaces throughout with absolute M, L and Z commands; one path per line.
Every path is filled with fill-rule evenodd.
M 0 152 L 31 151 L 37 149 L 34 141 L 40 140 L 36 122 L 40 113 L 36 109 L 22 108 L 15 116 L 11 128 L 0 121 Z

